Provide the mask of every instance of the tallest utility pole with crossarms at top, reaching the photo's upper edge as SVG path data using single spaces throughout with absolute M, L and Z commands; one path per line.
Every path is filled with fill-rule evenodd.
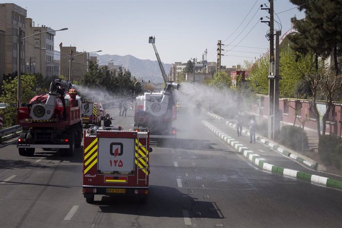
M 270 41 L 270 65 L 269 65 L 269 112 L 268 112 L 268 138 L 273 139 L 273 122 L 274 122 L 274 11 L 273 11 L 273 0 L 270 1 L 270 8 L 262 8 L 261 9 L 268 10 L 270 13 L 270 21 L 263 21 L 261 18 L 261 22 L 266 22 L 270 26 L 270 33 L 266 35 L 266 37 Z

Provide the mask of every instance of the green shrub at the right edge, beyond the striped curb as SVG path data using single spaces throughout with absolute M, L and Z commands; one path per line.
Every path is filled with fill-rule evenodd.
M 341 155 L 342 144 L 341 137 L 336 135 L 321 135 L 318 142 L 318 154 L 324 164 L 332 165 L 333 160 L 339 160 L 339 155 Z

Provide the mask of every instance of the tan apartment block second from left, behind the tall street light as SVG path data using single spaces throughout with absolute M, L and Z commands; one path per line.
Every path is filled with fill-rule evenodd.
M 54 29 L 46 25 L 35 26 L 32 18 L 26 18 L 27 34 L 36 34 L 28 37 L 25 42 L 25 70 L 27 73 L 41 73 L 43 77 L 59 76 L 59 61 L 55 60 Z

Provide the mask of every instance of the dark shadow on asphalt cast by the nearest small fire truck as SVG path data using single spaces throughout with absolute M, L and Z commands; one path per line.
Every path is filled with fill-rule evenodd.
M 139 204 L 137 198 L 128 196 L 103 196 L 94 205 L 104 213 L 183 218 L 185 211 L 190 218 L 225 218 L 215 202 L 199 201 L 173 187 L 151 185 L 149 193 L 146 204 Z

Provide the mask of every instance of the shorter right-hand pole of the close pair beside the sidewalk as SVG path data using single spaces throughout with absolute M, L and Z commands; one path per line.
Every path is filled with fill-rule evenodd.
M 273 122 L 273 138 L 279 138 L 280 130 L 280 111 L 279 111 L 279 60 L 280 60 L 280 47 L 279 47 L 279 37 L 281 31 L 276 31 L 276 54 L 275 54 L 275 77 L 274 77 L 274 122 Z

